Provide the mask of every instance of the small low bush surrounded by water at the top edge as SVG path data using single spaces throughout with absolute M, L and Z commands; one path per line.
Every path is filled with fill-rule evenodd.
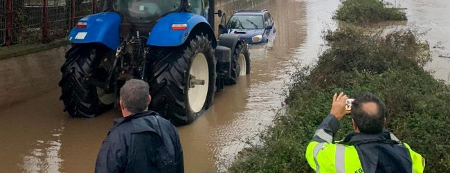
M 374 23 L 406 20 L 406 13 L 386 7 L 380 0 L 343 0 L 334 17 L 350 23 Z

